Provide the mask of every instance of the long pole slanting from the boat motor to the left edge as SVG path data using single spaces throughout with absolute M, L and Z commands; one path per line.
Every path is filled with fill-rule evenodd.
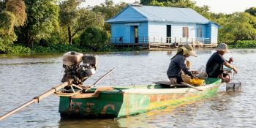
M 34 99 L 29 100 L 29 102 L 26 102 L 23 105 L 20 105 L 18 108 L 15 108 L 8 113 L 5 113 L 3 116 L 0 116 L 0 121 L 3 120 L 4 118 L 7 118 L 8 116 L 11 116 L 13 113 L 16 113 L 19 110 L 25 108 L 26 106 L 31 105 L 32 103 L 37 103 L 37 102 L 41 101 L 45 97 L 48 97 L 50 94 L 53 94 L 54 92 L 58 91 L 59 89 L 64 88 L 65 86 L 68 86 L 72 82 L 73 82 L 73 79 L 69 80 L 68 82 L 59 84 L 58 86 L 50 89 L 49 91 L 46 91 L 44 94 L 39 95 L 38 97 L 34 97 Z

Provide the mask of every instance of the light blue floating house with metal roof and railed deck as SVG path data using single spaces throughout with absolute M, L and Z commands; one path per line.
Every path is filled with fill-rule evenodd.
M 189 8 L 130 4 L 107 21 L 112 44 L 217 43 L 219 25 Z

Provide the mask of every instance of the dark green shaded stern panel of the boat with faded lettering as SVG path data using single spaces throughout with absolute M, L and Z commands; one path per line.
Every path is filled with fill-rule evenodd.
M 59 113 L 67 118 L 115 118 L 122 104 L 123 93 L 118 92 L 86 99 L 60 97 Z

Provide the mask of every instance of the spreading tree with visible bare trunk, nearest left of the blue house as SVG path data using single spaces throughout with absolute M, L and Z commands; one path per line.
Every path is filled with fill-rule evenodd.
M 79 4 L 79 1 L 67 0 L 59 5 L 61 9 L 59 12 L 61 26 L 67 27 L 69 44 L 72 44 L 72 37 L 79 31 L 82 31 L 89 26 L 102 28 L 104 25 L 104 18 L 102 15 L 87 9 L 78 10 Z

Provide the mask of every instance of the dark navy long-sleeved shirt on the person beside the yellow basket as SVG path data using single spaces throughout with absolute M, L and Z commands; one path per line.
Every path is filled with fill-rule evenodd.
M 192 76 L 192 72 L 186 65 L 186 58 L 178 54 L 173 59 L 171 59 L 169 68 L 167 69 L 168 78 L 181 78 L 181 71 L 183 70 L 185 74 Z

